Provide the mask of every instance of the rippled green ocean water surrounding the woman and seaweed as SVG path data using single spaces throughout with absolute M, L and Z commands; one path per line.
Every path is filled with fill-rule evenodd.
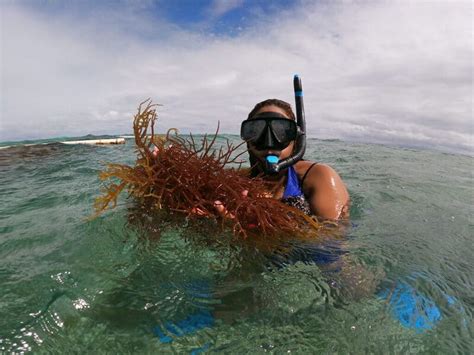
M 317 241 L 276 258 L 126 196 L 89 220 L 131 140 L 0 149 L 0 352 L 472 353 L 473 158 L 308 147 L 352 199 L 333 264 Z

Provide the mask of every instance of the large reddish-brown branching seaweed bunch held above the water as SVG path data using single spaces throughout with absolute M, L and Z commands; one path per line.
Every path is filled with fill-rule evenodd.
M 155 134 L 157 105 L 142 102 L 133 121 L 137 151 L 135 166 L 108 164 L 99 175 L 108 181 L 95 201 L 96 215 L 113 208 L 119 194 L 141 200 L 152 209 L 180 213 L 189 219 L 212 218 L 230 226 L 235 236 L 314 238 L 322 224 L 301 211 L 268 198 L 272 186 L 264 179 L 248 177 L 239 162 L 240 145 L 229 141 L 216 148 L 216 133 L 196 142 L 176 129 Z M 248 191 L 246 195 L 243 191 Z M 217 213 L 215 201 L 222 201 L 227 217 Z

